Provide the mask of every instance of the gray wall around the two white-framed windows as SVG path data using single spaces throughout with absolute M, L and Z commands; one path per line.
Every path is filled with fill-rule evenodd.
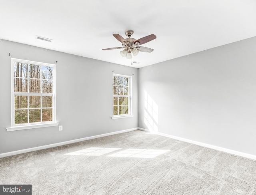
M 0 40 L 0 153 L 138 127 L 138 69 Z M 9 53 L 11 56 L 9 56 Z M 56 64 L 56 120 L 63 125 L 10 127 L 11 58 Z M 132 75 L 134 117 L 111 119 L 113 73 Z

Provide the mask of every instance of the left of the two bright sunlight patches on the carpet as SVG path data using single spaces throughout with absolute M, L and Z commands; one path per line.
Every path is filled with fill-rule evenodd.
M 87 149 L 70 152 L 65 155 L 83 155 L 83 156 L 101 156 L 122 148 L 110 148 L 110 147 L 89 147 Z

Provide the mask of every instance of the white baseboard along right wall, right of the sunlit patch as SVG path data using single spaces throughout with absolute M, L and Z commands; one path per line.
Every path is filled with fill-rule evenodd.
M 242 157 L 246 157 L 246 158 L 249 158 L 249 159 L 256 160 L 256 156 L 252 155 L 252 154 L 247 154 L 247 153 L 227 149 L 227 148 L 224 148 L 224 147 L 218 147 L 218 146 L 210 145 L 210 144 L 207 144 L 207 143 L 193 141 L 193 140 L 185 139 L 185 138 L 182 138 L 182 137 L 176 137 L 176 136 L 168 135 L 168 134 L 165 134 L 165 133 L 158 132 L 157 134 L 165 136 L 165 137 L 170 137 L 172 139 L 177 139 L 177 140 L 180 140 L 180 141 L 185 141 L 185 142 L 188 142 L 188 143 L 193 143 L 193 144 L 200 145 L 200 146 L 203 146 L 203 147 L 208 147 L 208 148 L 215 149 L 215 150 L 218 150 L 218 151 L 222 151 L 222 152 L 230 153 L 230 154 L 233 154 L 233 155 L 242 156 Z

